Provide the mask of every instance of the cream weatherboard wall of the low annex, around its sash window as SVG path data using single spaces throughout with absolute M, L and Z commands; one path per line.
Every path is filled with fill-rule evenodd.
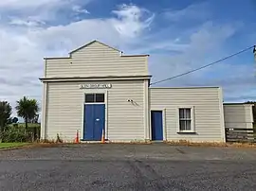
M 220 88 L 150 88 L 151 110 L 164 110 L 168 141 L 225 142 Z M 192 107 L 195 133 L 178 133 L 178 108 Z

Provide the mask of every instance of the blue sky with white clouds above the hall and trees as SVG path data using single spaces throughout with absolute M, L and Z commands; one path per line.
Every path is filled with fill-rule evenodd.
M 0 0 L 0 100 L 41 103 L 43 58 L 93 40 L 150 54 L 155 82 L 256 44 L 256 0 Z M 256 100 L 255 63 L 249 50 L 155 86 L 221 86 L 225 102 Z

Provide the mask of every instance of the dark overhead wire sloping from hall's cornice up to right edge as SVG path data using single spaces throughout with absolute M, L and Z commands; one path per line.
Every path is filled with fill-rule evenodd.
M 199 68 L 193 69 L 193 70 L 191 70 L 191 71 L 188 71 L 188 72 L 179 74 L 179 75 L 174 76 L 174 77 L 171 77 L 171 78 L 165 78 L 165 79 L 162 79 L 162 80 L 159 80 L 159 81 L 155 81 L 155 82 L 151 83 L 150 85 L 155 85 L 156 83 L 161 83 L 161 82 L 163 82 L 163 81 L 167 81 L 167 80 L 170 80 L 170 79 L 173 79 L 173 78 L 178 78 L 178 77 L 182 77 L 182 76 L 191 74 L 192 72 L 196 72 L 196 71 L 198 71 L 198 70 L 204 69 L 204 68 L 209 67 L 210 65 L 213 65 L 213 64 L 215 64 L 215 63 L 228 60 L 228 59 L 230 59 L 230 58 L 232 58 L 232 57 L 234 57 L 234 56 L 236 56 L 236 55 L 239 55 L 239 54 L 241 54 L 241 53 L 243 53 L 243 52 L 246 52 L 247 50 L 249 50 L 249 49 L 251 49 L 251 48 L 253 48 L 253 47 L 255 47 L 255 45 L 251 45 L 251 46 L 249 46 L 249 47 L 247 47 L 247 48 L 245 48 L 245 49 L 243 49 L 243 50 L 241 50 L 241 51 L 239 51 L 239 52 L 237 52 L 237 53 L 234 53 L 234 54 L 232 54 L 232 55 L 229 55 L 228 57 L 225 57 L 225 58 L 223 58 L 223 59 L 221 59 L 221 60 L 219 60 L 219 61 L 213 61 L 213 62 L 211 62 L 211 63 L 209 63 L 209 64 L 207 64 L 207 65 L 203 65 L 203 66 L 201 66 L 201 67 L 199 67 Z

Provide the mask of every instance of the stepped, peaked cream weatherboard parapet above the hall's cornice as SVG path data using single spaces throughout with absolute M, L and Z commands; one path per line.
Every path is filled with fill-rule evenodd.
M 70 58 L 46 59 L 46 78 L 148 75 L 147 56 L 120 56 L 119 51 L 95 42 Z

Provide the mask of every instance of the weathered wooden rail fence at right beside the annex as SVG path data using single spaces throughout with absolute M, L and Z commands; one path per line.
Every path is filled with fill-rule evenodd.
M 256 143 L 253 129 L 226 129 L 226 141 L 238 143 Z

